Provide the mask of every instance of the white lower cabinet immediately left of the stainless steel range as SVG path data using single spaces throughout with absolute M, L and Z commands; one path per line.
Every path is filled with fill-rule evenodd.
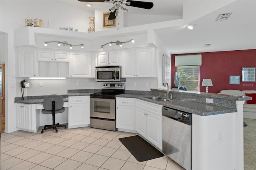
M 90 124 L 90 96 L 68 97 L 68 128 Z

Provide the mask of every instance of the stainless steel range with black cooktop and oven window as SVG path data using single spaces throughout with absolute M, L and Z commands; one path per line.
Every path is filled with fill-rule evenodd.
M 102 92 L 90 95 L 90 127 L 116 131 L 116 95 L 124 83 L 102 83 Z

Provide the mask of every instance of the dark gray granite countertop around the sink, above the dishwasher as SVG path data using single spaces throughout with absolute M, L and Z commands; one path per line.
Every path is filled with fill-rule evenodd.
M 122 94 L 122 95 L 117 95 L 116 97 L 136 98 L 143 101 L 148 101 L 151 103 L 169 107 L 171 109 L 177 109 L 180 111 L 193 113 L 200 116 L 218 115 L 218 114 L 224 114 L 224 113 L 237 112 L 237 109 L 220 107 L 220 106 L 211 105 L 211 104 L 197 103 L 189 100 L 172 99 L 170 101 L 156 101 L 156 100 L 145 98 L 150 96 L 152 95 Z

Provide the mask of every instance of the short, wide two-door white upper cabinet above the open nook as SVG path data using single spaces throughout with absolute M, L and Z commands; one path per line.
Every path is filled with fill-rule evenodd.
M 38 61 L 70 61 L 70 52 L 68 51 L 54 51 L 54 50 L 38 50 Z

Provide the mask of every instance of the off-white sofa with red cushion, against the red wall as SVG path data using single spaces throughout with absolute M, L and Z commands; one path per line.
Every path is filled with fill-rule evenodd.
M 246 96 L 245 93 L 256 93 L 256 90 L 222 90 L 218 94 L 224 95 L 237 95 L 237 96 Z M 244 118 L 245 119 L 256 119 L 256 104 L 247 104 L 244 103 Z

